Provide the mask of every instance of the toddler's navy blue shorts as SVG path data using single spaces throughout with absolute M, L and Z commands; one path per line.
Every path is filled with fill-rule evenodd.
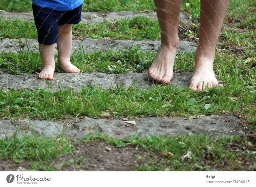
M 71 11 L 55 11 L 32 5 L 34 20 L 37 29 L 38 42 L 52 45 L 58 41 L 60 25 L 76 24 L 81 21 L 82 5 Z

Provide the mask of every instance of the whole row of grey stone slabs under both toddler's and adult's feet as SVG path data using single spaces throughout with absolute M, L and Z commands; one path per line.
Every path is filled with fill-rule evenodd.
M 175 73 L 171 81 L 174 86 L 188 86 L 193 73 L 182 72 Z M 156 82 L 148 77 L 148 73 L 126 73 L 126 74 L 108 74 L 108 73 L 54 73 L 54 79 L 49 81 L 52 92 L 59 91 L 59 85 L 62 88 L 72 87 L 74 92 L 79 92 L 81 86 L 95 86 L 108 89 L 111 86 L 117 88 L 120 85 L 128 88 L 130 86 L 146 89 L 152 87 Z M 134 83 L 134 84 L 133 84 Z M 4 86 L 3 91 L 14 88 L 15 90 L 36 90 L 47 88 L 47 82 L 38 79 L 37 74 L 10 75 L 0 74 L 0 87 Z M 47 89 L 48 90 L 48 89 Z

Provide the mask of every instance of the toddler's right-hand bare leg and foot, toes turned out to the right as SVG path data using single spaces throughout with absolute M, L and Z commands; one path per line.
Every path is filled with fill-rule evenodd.
M 79 73 L 80 70 L 70 63 L 72 49 L 72 24 L 59 26 L 57 47 L 60 69 L 68 73 Z

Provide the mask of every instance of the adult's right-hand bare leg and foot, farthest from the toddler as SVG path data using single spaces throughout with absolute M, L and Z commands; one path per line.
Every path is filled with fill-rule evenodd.
M 202 91 L 205 86 L 217 86 L 213 61 L 217 40 L 228 8 L 229 0 L 201 0 L 199 45 L 195 53 L 194 75 L 190 89 Z

